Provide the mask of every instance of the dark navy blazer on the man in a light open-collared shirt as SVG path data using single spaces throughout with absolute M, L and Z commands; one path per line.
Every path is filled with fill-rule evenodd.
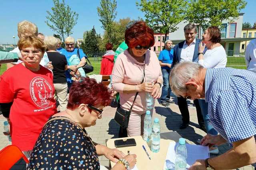
M 181 50 L 182 50 L 182 47 L 183 47 L 185 41 L 186 40 L 184 40 L 174 46 L 172 67 L 175 64 L 180 63 L 180 54 L 181 54 Z M 200 42 L 201 42 L 201 40 L 196 38 L 195 51 L 194 51 L 194 56 L 193 56 L 193 60 L 192 60 L 193 62 L 195 62 L 198 59 L 198 47 L 199 47 Z

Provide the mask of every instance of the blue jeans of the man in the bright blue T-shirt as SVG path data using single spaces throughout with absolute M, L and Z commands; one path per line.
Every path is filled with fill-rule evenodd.
M 161 95 L 160 102 L 165 102 L 166 100 L 170 99 L 171 92 L 172 92 L 169 85 L 170 70 L 162 68 L 162 74 L 163 74 L 164 82 L 163 82 L 162 95 Z

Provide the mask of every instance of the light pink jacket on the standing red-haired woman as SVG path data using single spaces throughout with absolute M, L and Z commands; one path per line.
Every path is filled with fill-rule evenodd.
M 138 85 L 143 78 L 143 65 L 134 59 L 127 50 L 118 55 L 112 71 L 112 87 L 120 93 L 120 105 L 129 110 L 135 97 L 134 93 L 124 94 L 125 84 Z M 146 51 L 144 82 L 156 82 L 162 79 L 161 67 L 154 51 Z M 134 113 L 146 112 L 146 92 L 139 92 L 132 108 Z

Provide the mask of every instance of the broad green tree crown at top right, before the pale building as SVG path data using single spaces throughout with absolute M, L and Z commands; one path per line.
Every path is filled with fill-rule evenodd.
M 245 6 L 244 0 L 191 0 L 186 20 L 205 30 L 210 25 L 220 26 L 224 20 L 232 23 Z

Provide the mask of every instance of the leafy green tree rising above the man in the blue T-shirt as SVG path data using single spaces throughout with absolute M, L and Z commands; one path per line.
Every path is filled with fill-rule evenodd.
M 177 25 L 185 18 L 186 0 L 141 0 L 136 2 L 145 13 L 146 22 L 155 32 L 167 34 L 178 29 Z

